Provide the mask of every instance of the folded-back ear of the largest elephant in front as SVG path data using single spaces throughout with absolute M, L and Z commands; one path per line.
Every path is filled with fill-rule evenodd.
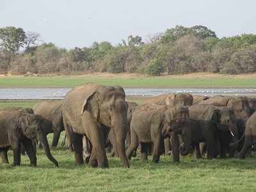
M 99 117 L 99 100 L 97 97 L 93 97 L 98 92 L 93 92 L 92 94 L 88 95 L 83 102 L 81 116 L 83 116 L 84 111 L 88 111 L 93 113 L 96 119 Z

